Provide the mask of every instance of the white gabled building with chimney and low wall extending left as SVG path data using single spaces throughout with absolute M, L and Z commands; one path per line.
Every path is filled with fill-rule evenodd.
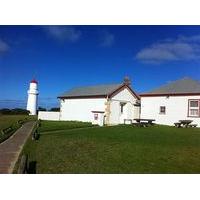
M 122 84 L 75 88 L 58 98 L 60 112 L 39 112 L 39 119 L 114 125 L 139 117 L 139 96 L 128 79 Z

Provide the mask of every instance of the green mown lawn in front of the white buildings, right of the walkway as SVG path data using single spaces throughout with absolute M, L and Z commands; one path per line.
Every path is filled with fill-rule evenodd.
M 200 173 L 198 128 L 51 126 L 24 147 L 33 173 Z

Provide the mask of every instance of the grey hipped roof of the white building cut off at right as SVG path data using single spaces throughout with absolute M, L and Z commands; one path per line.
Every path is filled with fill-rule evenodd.
M 189 95 L 200 94 L 200 82 L 191 78 L 183 78 L 170 82 L 160 88 L 140 94 L 140 96 L 160 96 L 160 95 Z

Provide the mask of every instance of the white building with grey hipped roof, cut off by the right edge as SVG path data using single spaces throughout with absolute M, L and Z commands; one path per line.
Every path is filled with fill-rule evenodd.
M 200 126 L 200 82 L 189 78 L 171 82 L 140 94 L 141 118 L 174 125 L 179 120 L 193 120 Z

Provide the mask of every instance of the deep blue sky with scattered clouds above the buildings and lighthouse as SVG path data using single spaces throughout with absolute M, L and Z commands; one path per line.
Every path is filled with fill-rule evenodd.
M 0 26 L 0 107 L 39 105 L 73 87 L 122 82 L 145 92 L 183 77 L 200 80 L 200 26 Z

